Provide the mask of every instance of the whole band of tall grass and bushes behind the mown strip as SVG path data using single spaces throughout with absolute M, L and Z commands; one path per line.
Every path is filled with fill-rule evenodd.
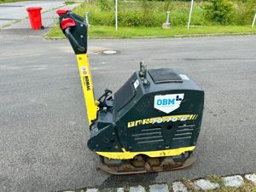
M 195 1 L 192 13 L 192 26 L 247 25 L 251 24 L 256 8 L 256 0 L 210 0 Z M 189 20 L 190 2 L 165 1 L 120 1 L 119 26 L 162 26 L 166 21 L 166 11 L 171 11 L 172 26 L 186 26 Z M 90 13 L 90 25 L 114 26 L 114 0 L 96 0 L 82 3 L 73 10 L 84 17 Z

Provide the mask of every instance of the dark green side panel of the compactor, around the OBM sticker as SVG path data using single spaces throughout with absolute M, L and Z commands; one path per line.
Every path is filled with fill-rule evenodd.
M 164 113 L 154 108 L 154 96 L 184 94 L 180 108 Z M 129 151 L 152 151 L 195 146 L 200 131 L 204 93 L 166 90 L 144 95 L 117 122 L 121 144 Z

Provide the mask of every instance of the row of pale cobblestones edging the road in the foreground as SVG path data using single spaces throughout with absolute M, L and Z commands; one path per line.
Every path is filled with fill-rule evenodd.
M 150 185 L 122 186 L 120 188 L 84 188 L 68 189 L 57 192 L 189 192 L 189 191 L 207 191 L 231 187 L 234 189 L 242 187 L 245 183 L 256 186 L 256 173 L 248 173 L 234 176 L 208 176 L 194 180 L 176 181 L 173 183 L 155 183 Z M 219 190 L 218 190 L 219 191 Z

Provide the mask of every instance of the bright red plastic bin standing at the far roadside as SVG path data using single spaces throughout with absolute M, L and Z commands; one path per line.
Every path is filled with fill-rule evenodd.
M 41 10 L 40 7 L 30 7 L 27 8 L 28 17 L 30 20 L 31 28 L 34 30 L 41 29 L 42 20 L 41 20 Z

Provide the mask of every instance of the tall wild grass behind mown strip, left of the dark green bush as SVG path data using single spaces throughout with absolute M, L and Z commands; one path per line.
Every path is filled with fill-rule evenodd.
M 102 6 L 98 1 L 81 3 L 73 9 L 73 12 L 84 17 L 84 12 L 88 11 L 92 25 L 113 26 L 115 22 L 114 1 L 108 0 L 109 2 L 105 6 Z M 211 25 L 210 21 L 205 20 L 203 9 L 205 4 L 207 3 L 195 3 L 192 18 L 193 25 Z M 174 26 L 185 26 L 189 20 L 189 7 L 189 2 L 181 1 L 119 1 L 119 26 L 161 26 L 166 21 L 167 10 L 172 10 L 170 22 Z

